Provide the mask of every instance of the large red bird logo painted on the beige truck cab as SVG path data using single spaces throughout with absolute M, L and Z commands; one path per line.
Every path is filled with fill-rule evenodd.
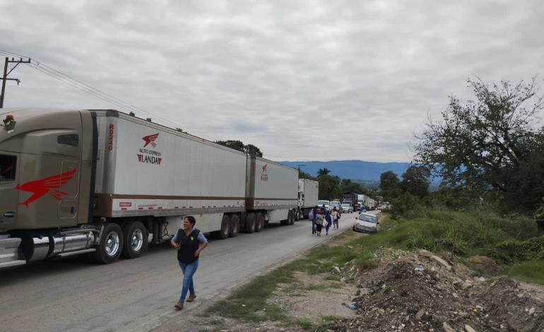
M 53 175 L 52 177 L 45 177 L 44 179 L 40 180 L 18 184 L 15 189 L 32 193 L 32 196 L 30 196 L 23 203 L 19 203 L 19 205 L 23 205 L 28 208 L 28 204 L 40 199 L 47 193 L 56 198 L 57 201 L 60 201 L 62 196 L 66 195 L 64 191 L 60 191 L 60 187 L 69 182 L 74 174 L 76 174 L 76 170 L 64 172 L 59 175 Z

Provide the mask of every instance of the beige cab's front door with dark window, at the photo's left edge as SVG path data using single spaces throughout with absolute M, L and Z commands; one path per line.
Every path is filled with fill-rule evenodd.
M 0 151 L 0 232 L 13 228 L 17 220 L 18 157 L 18 153 Z

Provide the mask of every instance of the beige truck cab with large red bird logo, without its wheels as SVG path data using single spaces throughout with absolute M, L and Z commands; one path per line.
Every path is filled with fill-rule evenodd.
M 90 112 L 0 112 L 0 264 L 9 266 L 65 251 L 56 230 L 88 223 L 93 122 Z

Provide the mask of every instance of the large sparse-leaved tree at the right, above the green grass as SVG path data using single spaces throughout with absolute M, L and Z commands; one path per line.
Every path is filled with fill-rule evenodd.
M 480 79 L 468 84 L 475 100 L 450 97 L 442 121 L 428 121 L 415 162 L 449 186 L 495 192 L 509 207 L 534 208 L 544 196 L 544 134 L 533 128 L 544 107 L 539 84 L 534 78 L 515 85 Z

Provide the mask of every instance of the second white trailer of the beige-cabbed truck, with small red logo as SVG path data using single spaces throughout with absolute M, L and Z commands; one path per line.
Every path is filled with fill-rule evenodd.
M 256 232 L 267 223 L 295 223 L 298 170 L 254 155 L 247 157 L 247 170 L 244 230 L 252 232 L 253 223 Z

